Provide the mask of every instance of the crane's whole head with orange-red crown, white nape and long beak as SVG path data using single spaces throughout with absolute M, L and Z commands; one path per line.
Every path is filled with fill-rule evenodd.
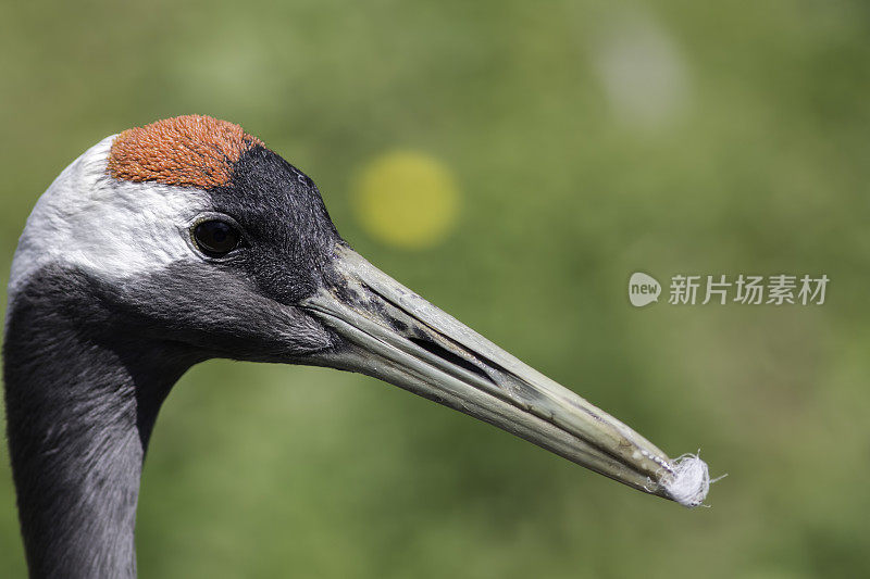
M 366 374 L 644 492 L 707 493 L 698 458 L 671 460 L 356 253 L 314 182 L 237 125 L 175 117 L 88 150 L 30 215 L 11 301 L 45 272 L 79 280 L 83 326 L 197 361 Z

